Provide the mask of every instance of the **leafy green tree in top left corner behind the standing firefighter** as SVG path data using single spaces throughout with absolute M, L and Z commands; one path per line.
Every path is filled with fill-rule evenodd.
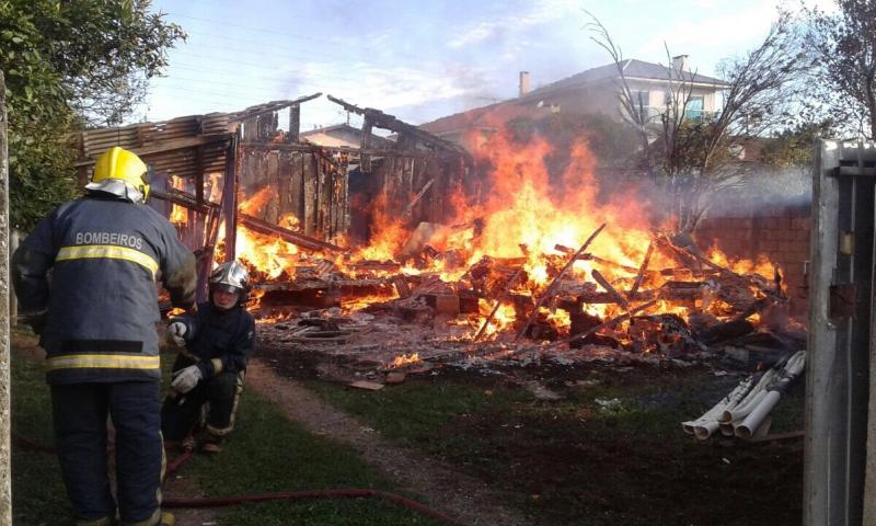
M 12 224 L 76 192 L 71 133 L 122 122 L 185 35 L 151 0 L 0 0 Z

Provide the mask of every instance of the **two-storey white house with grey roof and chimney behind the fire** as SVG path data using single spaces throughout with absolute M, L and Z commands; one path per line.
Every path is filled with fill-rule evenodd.
M 685 108 L 688 118 L 716 112 L 721 106 L 719 93 L 728 84 L 690 71 L 687 55 L 675 57 L 672 61 L 671 68 L 636 59 L 621 62 L 634 102 L 647 121 L 658 122 L 671 91 L 678 90 L 681 82 L 691 90 Z M 603 114 L 618 122 L 623 119 L 620 73 L 615 64 L 588 69 L 535 90 L 530 90 L 529 85 L 529 73 L 521 71 L 518 98 L 441 117 L 419 127 L 471 151 L 504 123 L 521 116 Z

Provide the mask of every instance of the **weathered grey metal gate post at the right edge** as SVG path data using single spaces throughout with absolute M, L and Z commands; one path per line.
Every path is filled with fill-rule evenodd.
M 863 524 L 872 391 L 874 183 L 873 144 L 818 144 L 806 365 L 806 526 Z

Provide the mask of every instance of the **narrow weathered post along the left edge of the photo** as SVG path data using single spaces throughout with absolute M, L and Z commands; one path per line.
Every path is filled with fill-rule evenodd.
M 7 88 L 0 70 L 0 526 L 12 525 L 12 447 L 9 358 L 9 158 Z

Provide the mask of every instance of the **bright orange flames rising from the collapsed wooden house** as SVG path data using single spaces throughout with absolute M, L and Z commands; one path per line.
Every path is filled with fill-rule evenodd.
M 653 214 L 647 203 L 632 193 L 615 193 L 610 197 L 600 194 L 595 176 L 596 159 L 585 141 L 572 147 L 568 162 L 558 175 L 552 175 L 546 165 L 546 159 L 554 153 L 552 146 L 538 137 L 519 145 L 506 134 L 496 134 L 474 155 L 481 164 L 492 167 L 483 184 L 488 188 L 486 197 L 473 202 L 458 190 L 450 196 L 456 218 L 449 226 L 407 225 L 401 218 L 385 215 L 384 203 L 378 198 L 372 203 L 372 236 L 367 247 L 344 254 L 312 253 L 241 227 L 237 237 L 239 258 L 265 279 L 281 276 L 295 279 L 302 267 L 311 273 L 316 272 L 313 268 L 331 268 L 362 277 L 361 265 L 367 262 L 382 264 L 367 271 L 373 277 L 439 276 L 456 293 L 463 289 L 483 293 L 477 312 L 469 315 L 469 321 L 472 335 L 482 332 L 482 338 L 491 339 L 514 334 L 526 318 L 555 327 L 561 336 L 567 334 L 573 321 L 566 309 L 558 309 L 551 301 L 534 315 L 527 309 L 531 311 L 534 300 L 554 284 L 560 270 L 602 224 L 607 227 L 570 265 L 566 279 L 553 285 L 562 288 L 574 283 L 579 288 L 590 287 L 588 290 L 593 293 L 620 296 L 616 301 L 584 302 L 579 306 L 583 313 L 600 319 L 619 316 L 646 302 L 637 299 L 633 289 L 655 290 L 691 281 L 691 271 L 679 268 L 677 261 L 653 247 L 655 232 L 666 230 L 667 225 L 655 225 L 649 219 Z M 240 211 L 257 215 L 275 198 L 275 190 L 263 188 L 246 199 Z M 298 227 L 291 215 L 279 222 L 291 230 Z M 450 253 L 452 258 L 447 256 Z M 642 271 L 646 256 L 647 268 Z M 716 249 L 702 258 L 738 274 L 759 274 L 764 283 L 775 274 L 765 259 L 734 262 Z M 509 286 L 510 276 L 517 271 L 521 278 Z M 751 294 L 757 296 L 758 290 Z M 496 306 L 498 298 L 502 302 Z M 684 316 L 691 309 L 708 309 L 712 315 L 722 315 L 721 300 L 710 300 L 705 291 L 703 298 L 696 301 L 654 298 L 653 305 L 639 313 Z M 345 308 L 360 309 L 387 299 L 385 294 L 357 297 L 347 301 Z M 527 301 L 529 307 L 523 305 Z

